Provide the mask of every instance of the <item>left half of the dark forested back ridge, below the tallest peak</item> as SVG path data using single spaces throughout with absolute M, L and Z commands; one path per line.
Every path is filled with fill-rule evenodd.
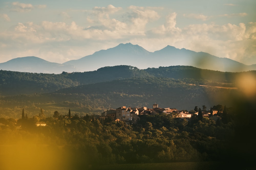
M 97 71 L 62 74 L 25 73 L 0 71 L 0 94 L 12 96 L 19 94 L 49 93 L 55 90 L 82 84 L 150 76 L 144 70 L 131 66 L 104 67 Z

